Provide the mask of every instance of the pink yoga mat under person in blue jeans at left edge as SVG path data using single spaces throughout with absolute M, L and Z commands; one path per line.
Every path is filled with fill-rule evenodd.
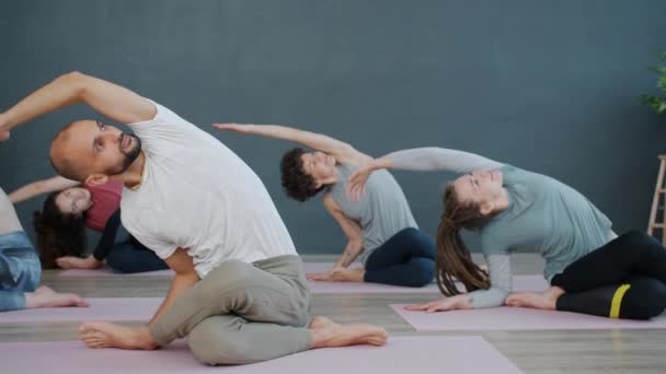
M 89 307 L 45 307 L 0 313 L 0 324 L 35 322 L 149 320 L 161 297 L 87 299 Z

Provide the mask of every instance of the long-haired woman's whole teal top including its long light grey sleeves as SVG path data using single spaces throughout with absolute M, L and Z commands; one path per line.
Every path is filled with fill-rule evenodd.
M 512 292 L 510 250 L 538 250 L 546 260 L 543 276 L 550 280 L 615 236 L 604 213 L 578 191 L 551 177 L 439 148 L 400 151 L 387 157 L 394 167 L 406 170 L 501 170 L 509 206 L 480 231 L 491 288 L 470 292 L 475 308 L 502 305 Z

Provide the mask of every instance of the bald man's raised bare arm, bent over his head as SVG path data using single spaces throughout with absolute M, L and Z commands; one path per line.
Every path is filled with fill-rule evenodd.
M 123 124 L 152 119 L 157 108 L 135 92 L 117 84 L 70 72 L 33 92 L 0 114 L 0 140 L 14 127 L 66 106 L 85 103 L 97 113 Z

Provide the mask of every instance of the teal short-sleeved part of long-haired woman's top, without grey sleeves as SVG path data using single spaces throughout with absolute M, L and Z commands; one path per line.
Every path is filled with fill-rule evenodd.
M 484 255 L 537 250 L 546 260 L 543 277 L 550 280 L 612 236 L 610 220 L 575 189 L 510 165 L 500 171 L 509 204 L 481 229 Z

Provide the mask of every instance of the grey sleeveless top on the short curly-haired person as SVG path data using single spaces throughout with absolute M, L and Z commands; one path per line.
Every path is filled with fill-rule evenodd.
M 338 164 L 337 183 L 329 187 L 329 192 L 342 212 L 359 223 L 364 247 L 361 261 L 365 264 L 368 256 L 391 236 L 406 227 L 418 229 L 418 225 L 402 188 L 387 171 L 372 173 L 360 200 L 349 200 L 346 191 L 354 170 L 352 165 Z

